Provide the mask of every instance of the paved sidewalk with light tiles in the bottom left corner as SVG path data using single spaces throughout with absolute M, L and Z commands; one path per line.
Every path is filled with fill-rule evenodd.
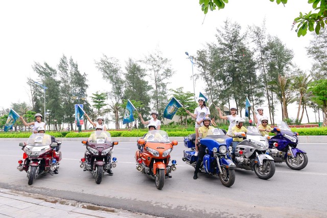
M 0 217 L 122 218 L 154 216 L 0 188 Z

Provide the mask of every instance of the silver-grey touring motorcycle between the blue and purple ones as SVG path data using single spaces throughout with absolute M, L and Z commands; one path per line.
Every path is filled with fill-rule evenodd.
M 269 136 L 262 136 L 258 128 L 247 128 L 246 139 L 238 143 L 233 162 L 236 167 L 254 171 L 260 179 L 270 179 L 275 174 L 274 159 L 266 154 Z

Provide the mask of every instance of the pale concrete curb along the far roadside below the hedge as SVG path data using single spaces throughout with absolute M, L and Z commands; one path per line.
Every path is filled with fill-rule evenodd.
M 140 137 L 111 137 L 113 141 L 120 142 L 136 142 Z M 177 140 L 178 142 L 183 142 L 184 137 L 169 137 L 170 140 Z M 0 138 L 0 141 L 14 141 L 22 142 L 27 141 L 28 138 Z M 62 142 L 66 141 L 82 141 L 86 138 L 57 138 Z M 327 135 L 308 135 L 308 136 L 298 136 L 299 143 L 327 143 Z

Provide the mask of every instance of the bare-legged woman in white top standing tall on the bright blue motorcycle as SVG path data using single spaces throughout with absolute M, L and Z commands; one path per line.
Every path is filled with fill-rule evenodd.
M 209 108 L 205 105 L 205 99 L 203 97 L 198 98 L 199 107 L 195 108 L 194 113 L 186 110 L 186 113 L 190 114 L 195 120 L 195 154 L 194 156 L 198 156 L 199 148 L 198 148 L 198 137 L 199 137 L 199 128 L 203 126 L 203 119 L 205 117 L 209 117 L 210 111 Z

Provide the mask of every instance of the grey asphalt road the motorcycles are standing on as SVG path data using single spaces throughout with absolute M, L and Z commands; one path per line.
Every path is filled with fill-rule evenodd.
M 193 180 L 194 168 L 181 160 L 186 148 L 179 142 L 171 153 L 177 171 L 158 190 L 154 180 L 136 170 L 134 142 L 114 148 L 117 167 L 101 184 L 79 167 L 82 143 L 63 142 L 59 174 L 37 178 L 30 186 L 26 172 L 16 169 L 23 153 L 18 142 L 0 142 L 0 187 L 164 217 L 327 217 L 327 143 L 298 148 L 309 157 L 301 171 L 276 163 L 275 175 L 261 180 L 254 172 L 237 169 L 235 183 L 227 188 L 204 174 Z

